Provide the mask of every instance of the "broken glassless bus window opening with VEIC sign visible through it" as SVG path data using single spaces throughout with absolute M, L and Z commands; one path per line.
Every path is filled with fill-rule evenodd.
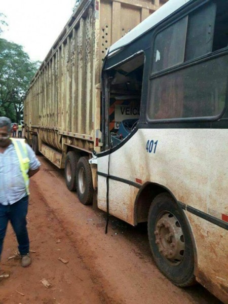
M 110 144 L 116 146 L 137 125 L 140 115 L 144 54 L 108 71 Z

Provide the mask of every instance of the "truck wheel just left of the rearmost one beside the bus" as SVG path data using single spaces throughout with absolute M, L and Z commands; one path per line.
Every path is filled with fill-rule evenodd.
M 78 161 L 80 159 L 80 155 L 75 153 L 74 151 L 69 151 L 66 155 L 65 160 L 65 182 L 69 191 L 76 190 L 76 168 Z

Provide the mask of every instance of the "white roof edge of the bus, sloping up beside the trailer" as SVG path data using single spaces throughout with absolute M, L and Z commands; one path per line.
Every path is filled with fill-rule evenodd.
M 191 0 L 169 0 L 166 4 L 164 4 L 160 9 L 155 11 L 145 20 L 143 20 L 139 25 L 134 27 L 129 33 L 127 33 L 124 37 L 118 40 L 115 44 L 113 44 L 109 48 L 109 53 L 124 47 L 129 44 L 133 40 L 137 39 L 141 34 L 155 26 L 157 23 L 171 15 L 177 9 L 182 7 L 185 3 Z M 111 54 L 110 54 L 111 55 Z

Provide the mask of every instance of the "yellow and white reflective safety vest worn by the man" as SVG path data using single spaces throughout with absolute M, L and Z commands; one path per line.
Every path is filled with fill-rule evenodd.
M 23 139 L 15 139 L 11 138 L 12 143 L 14 144 L 17 157 L 20 163 L 21 173 L 24 179 L 26 193 L 29 195 L 29 177 L 28 177 L 28 170 L 29 170 L 29 158 L 28 152 L 26 148 L 25 141 Z

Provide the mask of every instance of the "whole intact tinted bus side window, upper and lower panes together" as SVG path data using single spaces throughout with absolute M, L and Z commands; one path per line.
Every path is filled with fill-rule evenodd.
M 150 120 L 215 117 L 222 112 L 227 86 L 227 56 L 215 59 L 208 57 L 203 63 L 196 59 L 227 46 L 227 9 L 227 2 L 211 1 L 157 34 L 150 78 Z M 186 24 L 185 43 L 183 28 Z M 177 58 L 170 55 L 174 52 L 172 41 L 176 43 L 177 36 L 182 37 L 179 39 L 180 44 L 176 44 L 179 60 L 170 61 L 169 58 Z M 167 40 L 163 42 L 162 37 L 167 37 Z M 159 51 L 158 55 L 158 49 L 164 50 Z M 195 62 L 191 66 L 184 65 L 185 61 L 193 59 Z M 177 64 L 180 66 L 178 71 L 166 71 Z M 153 77 L 153 73 L 163 69 L 164 74 Z

